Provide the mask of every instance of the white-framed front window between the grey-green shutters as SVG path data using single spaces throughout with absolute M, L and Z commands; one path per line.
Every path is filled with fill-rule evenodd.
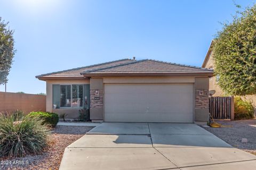
M 60 107 L 83 107 L 83 85 L 60 85 Z

